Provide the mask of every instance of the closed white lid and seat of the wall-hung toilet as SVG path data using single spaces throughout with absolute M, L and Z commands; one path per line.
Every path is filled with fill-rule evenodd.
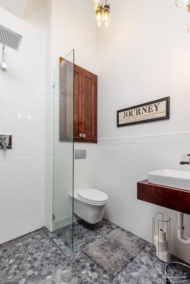
M 77 196 L 78 198 L 89 203 L 102 204 L 108 202 L 107 194 L 94 188 L 81 190 L 77 193 Z

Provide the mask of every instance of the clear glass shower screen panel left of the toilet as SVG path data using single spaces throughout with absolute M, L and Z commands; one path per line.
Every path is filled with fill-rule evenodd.
M 53 81 L 53 232 L 73 251 L 74 49 Z

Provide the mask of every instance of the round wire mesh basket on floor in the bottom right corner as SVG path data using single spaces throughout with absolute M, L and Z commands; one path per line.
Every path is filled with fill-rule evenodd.
M 190 267 L 180 262 L 169 262 L 165 266 L 166 277 L 172 284 L 190 284 Z

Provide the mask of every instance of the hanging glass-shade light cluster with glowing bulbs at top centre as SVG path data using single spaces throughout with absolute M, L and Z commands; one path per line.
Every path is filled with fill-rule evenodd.
M 190 0 L 189 0 L 190 1 Z M 101 27 L 102 24 L 105 28 L 110 25 L 110 4 L 106 4 L 102 7 L 100 0 L 93 0 L 92 5 L 94 10 L 96 10 L 96 26 Z

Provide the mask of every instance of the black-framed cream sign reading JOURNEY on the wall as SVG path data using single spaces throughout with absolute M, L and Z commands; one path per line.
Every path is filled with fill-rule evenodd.
M 117 110 L 117 127 L 170 118 L 170 97 Z

